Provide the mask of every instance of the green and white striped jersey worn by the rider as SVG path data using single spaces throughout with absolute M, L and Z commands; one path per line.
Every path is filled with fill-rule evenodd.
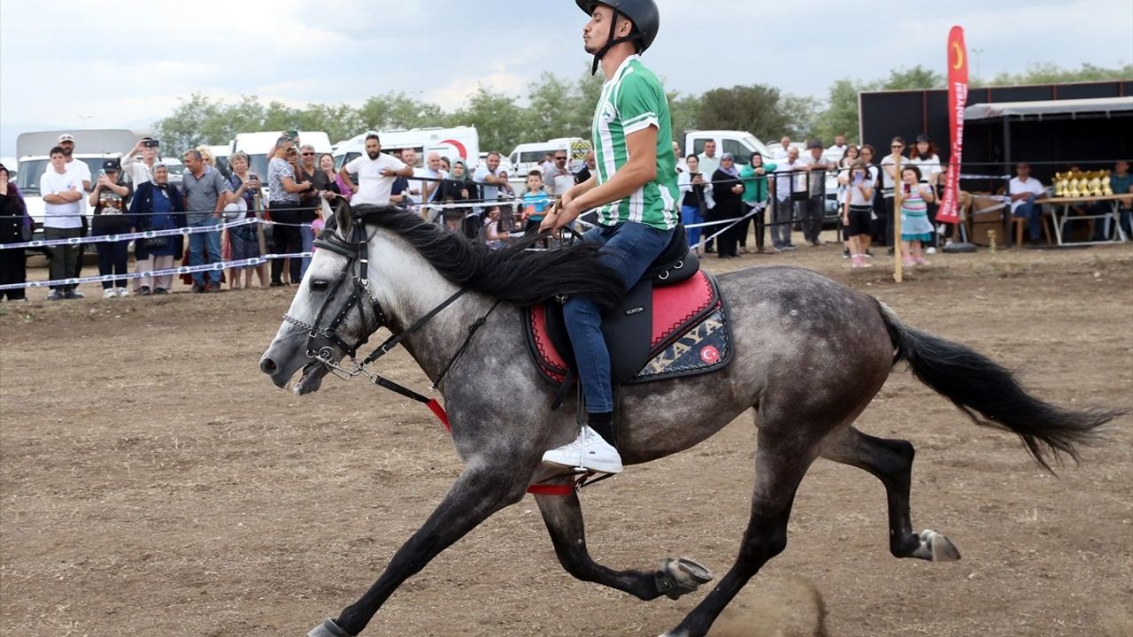
M 625 136 L 657 127 L 657 177 L 624 199 L 598 209 L 598 222 L 615 226 L 637 221 L 659 230 L 676 227 L 676 159 L 673 156 L 673 125 L 661 80 L 630 56 L 614 77 L 602 85 L 594 111 L 590 136 L 598 185 L 605 184 L 629 161 Z

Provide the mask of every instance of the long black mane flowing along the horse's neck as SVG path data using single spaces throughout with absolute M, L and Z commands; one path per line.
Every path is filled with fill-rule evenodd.
M 583 295 L 608 307 L 625 294 L 617 273 L 598 263 L 595 246 L 529 252 L 536 239 L 528 238 L 493 250 L 402 209 L 359 205 L 353 214 L 404 239 L 453 283 L 519 306 Z

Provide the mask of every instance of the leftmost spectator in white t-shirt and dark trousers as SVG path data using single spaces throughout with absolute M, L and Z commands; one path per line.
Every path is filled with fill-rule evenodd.
M 51 148 L 51 165 L 40 177 L 40 193 L 43 195 L 43 238 L 73 239 L 83 235 L 83 209 L 79 202 L 86 198 L 83 180 L 78 171 L 67 170 L 67 154 L 62 146 Z M 82 163 L 82 162 L 79 162 Z M 54 246 L 51 253 L 50 277 L 52 281 L 70 279 L 75 275 L 78 246 Z M 51 286 L 48 300 L 83 298 L 75 286 Z

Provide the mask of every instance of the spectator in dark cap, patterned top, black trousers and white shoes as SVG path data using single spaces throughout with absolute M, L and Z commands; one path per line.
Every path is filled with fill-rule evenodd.
M 122 168 L 119 161 L 117 159 L 103 161 L 102 170 L 99 171 L 99 180 L 94 182 L 94 192 L 88 197 L 88 203 L 94 206 L 94 216 L 91 219 L 92 236 L 125 235 L 130 231 L 130 220 L 126 214 L 126 199 L 130 197 L 131 193 L 129 182 L 122 179 Z M 99 250 L 99 274 L 102 277 L 125 277 L 129 262 L 129 253 L 127 252 L 129 245 L 129 239 L 104 240 L 95 244 L 95 249 Z M 102 282 L 103 298 L 121 296 L 130 296 L 125 278 Z

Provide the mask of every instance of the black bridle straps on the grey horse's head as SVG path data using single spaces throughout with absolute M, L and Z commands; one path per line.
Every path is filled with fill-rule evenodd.
M 366 236 L 366 224 L 360 219 L 355 220 L 351 240 L 346 241 L 340 239 L 333 230 L 326 229 L 314 241 L 315 247 L 347 257 L 347 263 L 342 267 L 342 272 L 339 273 L 338 279 L 334 280 L 334 286 L 327 294 L 326 300 L 323 301 L 323 306 L 318 309 L 314 324 L 299 321 L 287 314 L 283 315 L 284 321 L 303 330 L 307 330 L 307 356 L 323 363 L 331 370 L 337 368 L 332 358 L 334 351 L 331 345 L 338 346 L 350 358 L 353 358 L 358 353 L 358 348 L 369 341 L 369 336 L 385 326 L 386 323 L 382 304 L 374 298 L 369 286 L 369 241 L 373 236 Z M 352 274 L 356 261 L 358 262 L 358 272 L 357 274 Z M 334 318 L 323 326 L 323 317 L 331 306 L 331 299 L 335 298 L 339 289 L 347 282 L 348 278 L 352 286 L 350 297 L 342 305 L 342 308 L 339 309 Z M 366 301 L 369 303 L 369 313 L 374 317 L 373 324 L 370 324 L 370 321 L 366 316 Z M 349 345 L 339 336 L 338 330 L 355 308 L 358 309 L 358 316 L 361 318 L 363 336 L 353 345 Z

